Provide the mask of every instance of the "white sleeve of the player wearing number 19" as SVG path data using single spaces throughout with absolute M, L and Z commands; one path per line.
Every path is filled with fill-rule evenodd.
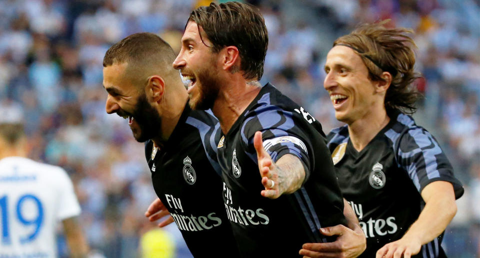
M 80 205 L 78 204 L 70 178 L 63 169 L 59 169 L 58 174 L 59 202 L 56 213 L 57 220 L 80 215 Z

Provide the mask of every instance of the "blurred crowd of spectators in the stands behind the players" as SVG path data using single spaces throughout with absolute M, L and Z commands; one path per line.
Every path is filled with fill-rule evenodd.
M 261 10 L 269 32 L 261 82 L 303 105 L 325 133 L 340 125 L 323 89 L 333 40 L 386 18 L 389 26 L 414 29 L 424 76 L 416 86 L 425 96 L 414 118 L 435 135 L 465 186 L 443 246 L 450 257 L 480 257 L 480 1 L 248 2 Z M 189 257 L 174 225 L 156 230 L 143 215 L 156 198 L 143 144 L 126 120 L 105 113 L 102 59 L 113 43 L 140 31 L 157 33 L 178 52 L 189 12 L 208 3 L 0 0 L 0 105 L 23 109 L 30 158 L 69 173 L 96 257 L 139 257 L 142 249 L 144 257 Z

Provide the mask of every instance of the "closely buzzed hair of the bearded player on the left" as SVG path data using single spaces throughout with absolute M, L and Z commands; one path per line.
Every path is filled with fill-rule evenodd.
M 145 67 L 155 64 L 162 67 L 162 70 L 176 73 L 171 66 L 175 56 L 171 46 L 159 36 L 141 32 L 131 34 L 112 45 L 103 57 L 103 67 L 126 62 L 127 69 L 141 74 Z

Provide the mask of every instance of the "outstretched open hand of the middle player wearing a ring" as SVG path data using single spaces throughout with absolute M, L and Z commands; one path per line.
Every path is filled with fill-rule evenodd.
M 270 155 L 263 148 L 261 132 L 256 132 L 253 137 L 253 146 L 255 147 L 256 157 L 258 159 L 258 170 L 260 171 L 261 184 L 265 190 L 261 191 L 261 196 L 276 199 L 280 197 L 280 183 L 278 182 L 277 166 L 271 160 Z

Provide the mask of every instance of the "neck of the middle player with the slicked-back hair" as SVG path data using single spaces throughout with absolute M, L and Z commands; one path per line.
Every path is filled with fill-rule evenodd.
M 260 92 L 260 84 L 241 80 L 218 92 L 211 111 L 218 118 L 221 131 L 226 134 L 241 113 Z

